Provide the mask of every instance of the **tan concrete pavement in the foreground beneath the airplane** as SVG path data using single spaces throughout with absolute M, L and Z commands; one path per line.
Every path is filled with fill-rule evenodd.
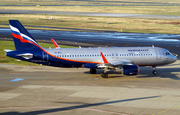
M 180 61 L 137 76 L 0 64 L 0 114 L 179 115 Z

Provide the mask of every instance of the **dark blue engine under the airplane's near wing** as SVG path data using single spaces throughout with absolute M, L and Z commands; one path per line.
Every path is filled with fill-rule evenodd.
M 137 75 L 139 73 L 138 65 L 123 65 L 124 75 Z

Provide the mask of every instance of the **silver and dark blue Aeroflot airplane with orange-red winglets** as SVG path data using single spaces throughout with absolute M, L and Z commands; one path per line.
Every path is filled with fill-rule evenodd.
M 103 69 L 101 77 L 108 78 L 107 71 L 123 75 L 137 75 L 139 66 L 156 66 L 173 63 L 177 57 L 160 47 L 98 47 L 98 48 L 43 48 L 18 20 L 9 20 L 15 51 L 6 50 L 6 56 L 56 67 Z

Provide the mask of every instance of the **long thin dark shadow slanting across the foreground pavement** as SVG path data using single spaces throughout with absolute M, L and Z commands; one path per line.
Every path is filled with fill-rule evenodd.
M 143 100 L 143 99 L 150 99 L 150 98 L 157 98 L 157 97 L 160 97 L 160 96 L 150 96 L 150 97 L 141 97 L 141 98 L 133 98 L 133 99 L 125 99 L 125 100 L 116 100 L 116 101 L 100 102 L 100 103 L 94 103 L 94 104 L 83 104 L 83 105 L 76 105 L 76 106 L 70 106 L 70 107 L 31 111 L 31 112 L 25 112 L 25 113 L 5 112 L 2 114 L 3 115 L 11 115 L 11 114 L 13 114 L 13 115 L 39 115 L 39 114 L 44 114 L 44 113 L 53 113 L 53 112 L 74 110 L 74 109 L 80 109 L 80 108 L 87 108 L 87 107 L 93 107 L 93 106 L 107 105 L 107 104 L 113 104 L 113 103 L 121 103 L 121 102 L 126 102 L 126 101 Z

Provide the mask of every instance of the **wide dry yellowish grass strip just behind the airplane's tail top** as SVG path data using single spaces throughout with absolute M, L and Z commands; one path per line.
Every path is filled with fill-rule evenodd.
M 53 20 L 49 19 L 51 16 L 53 17 Z M 51 16 L 32 14 L 0 14 L 0 22 L 1 24 L 8 24 L 8 20 L 17 19 L 23 25 L 66 28 L 43 28 L 45 30 L 68 30 L 69 28 L 69 31 L 79 31 L 78 29 L 80 28 L 117 32 L 180 34 L 180 20 L 57 15 Z M 0 27 L 9 28 L 9 25 L 0 25 Z M 38 27 L 26 28 L 42 29 Z

